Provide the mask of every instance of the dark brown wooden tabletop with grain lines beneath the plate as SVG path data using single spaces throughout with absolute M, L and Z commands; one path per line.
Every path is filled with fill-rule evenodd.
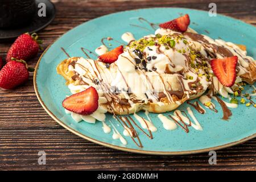
M 143 7 L 188 7 L 209 10 L 213 2 L 166 1 L 53 1 L 55 20 L 39 32 L 46 48 L 71 28 L 98 16 Z M 256 1 L 219 0 L 217 13 L 256 25 Z M 11 42 L 0 43 L 5 57 Z M 42 52 L 29 61 L 35 66 Z M 161 170 L 250 170 L 256 169 L 256 138 L 217 151 L 217 165 L 209 165 L 207 153 L 185 156 L 131 154 L 106 148 L 79 138 L 58 125 L 36 98 L 32 75 L 15 90 L 0 90 L 0 169 L 161 169 Z M 46 165 L 38 164 L 38 151 L 47 153 Z

